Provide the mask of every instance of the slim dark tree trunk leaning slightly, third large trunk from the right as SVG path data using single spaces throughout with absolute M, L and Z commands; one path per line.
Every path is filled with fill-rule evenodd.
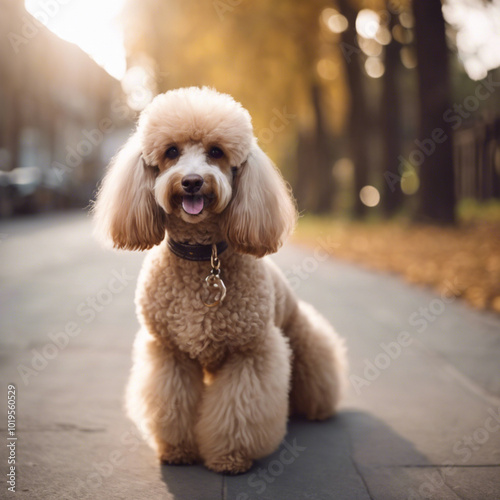
M 349 151 L 354 163 L 354 209 L 355 217 L 362 217 L 367 212 L 367 207 L 361 202 L 359 192 L 368 184 L 368 129 L 367 102 L 363 82 L 365 75 L 361 70 L 356 39 L 357 10 L 351 5 L 350 0 L 338 0 L 340 12 L 347 18 L 349 27 L 341 35 L 341 51 L 347 74 L 347 83 L 351 93 L 350 112 L 348 118 Z

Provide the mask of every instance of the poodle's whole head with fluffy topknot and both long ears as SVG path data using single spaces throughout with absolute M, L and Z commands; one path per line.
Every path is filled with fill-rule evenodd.
M 248 112 L 209 88 L 157 96 L 111 162 L 94 206 L 96 232 L 116 248 L 165 237 L 167 216 L 220 224 L 239 252 L 275 252 L 296 210 L 279 171 L 257 145 Z

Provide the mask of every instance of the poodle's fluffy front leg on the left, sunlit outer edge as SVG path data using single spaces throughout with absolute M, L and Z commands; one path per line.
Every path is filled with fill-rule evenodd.
M 194 427 L 202 391 L 196 362 L 166 349 L 145 330 L 138 333 L 127 411 L 163 462 L 199 460 Z

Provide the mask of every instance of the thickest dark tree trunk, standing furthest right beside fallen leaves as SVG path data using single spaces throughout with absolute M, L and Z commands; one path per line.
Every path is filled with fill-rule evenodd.
M 453 145 L 450 123 L 443 115 L 450 106 L 448 47 L 440 0 L 415 0 L 415 35 L 418 60 L 420 205 L 417 219 L 455 222 Z M 436 142 L 437 130 L 441 143 Z

